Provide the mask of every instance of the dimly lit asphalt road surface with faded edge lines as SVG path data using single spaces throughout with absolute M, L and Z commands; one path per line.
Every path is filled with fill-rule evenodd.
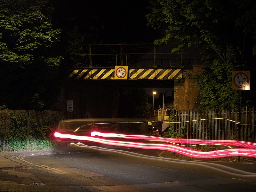
M 17 156 L 27 166 L 0 170 L 0 191 L 256 191 L 255 164 L 183 161 L 164 155 L 159 150 L 83 148 Z

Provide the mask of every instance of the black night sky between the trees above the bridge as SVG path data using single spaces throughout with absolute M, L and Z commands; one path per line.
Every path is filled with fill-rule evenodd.
M 56 27 L 75 25 L 88 44 L 153 43 L 157 32 L 147 26 L 148 0 L 50 0 Z

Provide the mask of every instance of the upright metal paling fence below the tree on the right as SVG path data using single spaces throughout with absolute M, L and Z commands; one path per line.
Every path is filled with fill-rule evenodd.
M 254 107 L 241 108 L 240 118 L 241 123 L 238 122 L 239 113 L 234 109 L 176 111 L 174 131 L 188 139 L 238 140 L 241 130 L 241 140 L 256 142 Z

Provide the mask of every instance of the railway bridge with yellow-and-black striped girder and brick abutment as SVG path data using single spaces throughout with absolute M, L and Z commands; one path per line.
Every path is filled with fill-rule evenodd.
M 134 45 L 134 44 L 131 44 Z M 150 44 L 151 45 L 151 44 Z M 140 62 L 139 65 L 134 67 L 134 63 L 131 65 L 127 58 L 129 55 L 136 55 L 142 53 L 123 53 L 123 44 L 120 44 L 120 51 L 117 53 L 92 53 L 92 45 L 86 45 L 89 47 L 89 53 L 76 54 L 76 56 L 85 57 L 88 60 L 87 67 L 77 67 L 73 66 L 68 70 L 68 81 L 71 82 L 69 86 L 68 93 L 69 98 L 75 100 L 77 98 L 74 93 L 74 89 L 78 87 L 78 84 L 83 87 L 84 85 L 88 87 L 92 86 L 90 92 L 96 92 L 96 88 L 102 87 L 140 87 L 140 88 L 173 88 L 174 89 L 174 109 L 177 110 L 188 110 L 195 109 L 197 107 L 196 101 L 199 94 L 199 89 L 194 84 L 193 77 L 195 75 L 201 75 L 203 70 L 201 65 L 190 65 L 186 66 L 184 60 L 185 53 L 175 55 L 175 58 L 158 59 L 159 55 L 163 56 L 165 53 L 157 53 L 157 49 L 154 45 L 154 51 L 150 54 L 153 55 L 153 61 L 148 61 L 148 55 L 146 55 L 147 64 Z M 143 53 L 145 54 L 145 53 Z M 167 53 L 166 53 L 167 54 Z M 94 56 L 108 56 L 108 59 L 115 58 L 115 62 L 112 62 L 112 67 L 93 67 L 92 59 Z M 168 53 L 168 55 L 173 56 L 173 54 Z M 117 62 L 120 58 L 120 61 Z M 108 60 L 107 59 L 107 60 Z M 125 62 L 123 62 L 123 59 Z M 86 60 L 86 59 L 84 59 Z M 131 60 L 131 58 L 130 58 Z M 143 60 L 143 58 L 142 58 Z M 175 62 L 173 61 L 175 60 Z M 177 60 L 179 62 L 177 62 Z M 105 59 L 106 61 L 106 59 Z M 99 62 L 99 61 L 98 61 Z M 102 61 L 101 61 L 102 62 Z M 167 62 L 167 63 L 166 63 Z M 173 63 L 173 64 L 172 64 Z M 174 64 L 176 63 L 176 64 Z M 150 67 L 145 67 L 150 66 Z M 118 77 L 117 68 L 124 68 L 125 78 Z M 85 89 L 87 89 L 85 88 Z M 87 89 L 88 90 L 88 89 Z M 92 91 L 94 90 L 94 91 Z M 76 91 L 77 92 L 77 91 Z M 115 94 L 113 91 L 109 91 L 110 95 Z M 114 91 L 115 92 L 115 91 Z M 104 94 L 97 93 L 99 95 Z M 108 97 L 105 95 L 105 97 Z M 110 96 L 115 97 L 115 96 Z M 80 100 L 83 98 L 80 98 Z M 109 98 L 110 99 L 110 98 Z M 79 98 L 78 98 L 79 100 Z M 98 98 L 102 100 L 102 98 Z M 81 101 L 74 101 L 81 103 Z M 101 106 L 103 103 L 100 104 Z M 105 105 L 105 104 L 104 104 Z M 74 104 L 75 106 L 75 104 Z

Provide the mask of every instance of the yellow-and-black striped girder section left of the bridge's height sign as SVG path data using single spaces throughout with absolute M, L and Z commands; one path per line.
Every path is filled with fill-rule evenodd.
M 114 79 L 115 69 L 71 69 L 71 79 Z

